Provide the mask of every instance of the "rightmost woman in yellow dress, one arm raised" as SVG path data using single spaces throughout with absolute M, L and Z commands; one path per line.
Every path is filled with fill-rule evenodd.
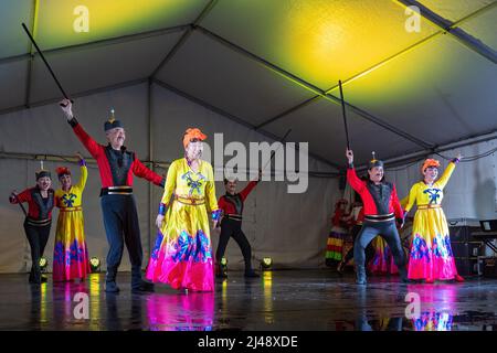
M 410 279 L 424 279 L 427 284 L 437 279 L 464 281 L 457 274 L 447 220 L 442 210 L 443 190 L 459 160 L 461 153 L 448 163 L 438 180 L 440 162 L 434 159 L 425 160 L 421 168 L 423 180 L 411 188 L 405 212 L 411 211 L 414 203 L 417 204 L 417 211 L 412 229 L 408 274 Z

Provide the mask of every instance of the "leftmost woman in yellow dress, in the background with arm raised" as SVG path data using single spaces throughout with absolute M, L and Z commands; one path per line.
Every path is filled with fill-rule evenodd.
M 81 207 L 88 172 L 83 157 L 77 157 L 81 171 L 77 184 L 72 184 L 71 171 L 67 168 L 56 169 L 62 188 L 55 191 L 55 205 L 60 213 L 53 250 L 54 281 L 84 279 L 91 271 Z

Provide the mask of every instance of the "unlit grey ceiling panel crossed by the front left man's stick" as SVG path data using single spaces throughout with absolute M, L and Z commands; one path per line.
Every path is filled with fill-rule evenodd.
M 147 77 L 181 33 L 168 33 L 110 45 L 57 51 L 46 56 L 64 89 L 72 93 Z M 126 57 L 126 60 L 123 60 Z M 40 56 L 32 72 L 31 101 L 60 97 L 60 90 Z

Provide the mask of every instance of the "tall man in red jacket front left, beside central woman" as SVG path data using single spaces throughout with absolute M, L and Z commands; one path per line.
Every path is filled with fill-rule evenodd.
M 104 125 L 108 143 L 103 146 L 87 135 L 73 116 L 71 100 L 62 100 L 61 106 L 74 133 L 96 160 L 101 173 L 101 205 L 105 233 L 110 247 L 107 254 L 105 291 L 119 291 L 116 285 L 116 275 L 125 243 L 131 263 L 133 291 L 154 291 L 154 285 L 141 279 L 144 255 L 138 213 L 133 195 L 133 175 L 144 178 L 162 188 L 165 178 L 145 167 L 135 152 L 128 151 L 123 146 L 126 139 L 125 130 L 121 122 L 114 118 L 114 111 L 110 119 Z

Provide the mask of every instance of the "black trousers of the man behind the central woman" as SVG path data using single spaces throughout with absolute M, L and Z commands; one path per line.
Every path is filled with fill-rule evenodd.
M 235 239 L 242 250 L 243 259 L 245 260 L 245 271 L 251 270 L 252 248 L 242 231 L 242 222 L 240 221 L 223 218 L 221 222 L 221 235 L 219 237 L 218 249 L 215 250 L 216 263 L 221 263 L 221 258 L 224 256 L 230 237 Z

